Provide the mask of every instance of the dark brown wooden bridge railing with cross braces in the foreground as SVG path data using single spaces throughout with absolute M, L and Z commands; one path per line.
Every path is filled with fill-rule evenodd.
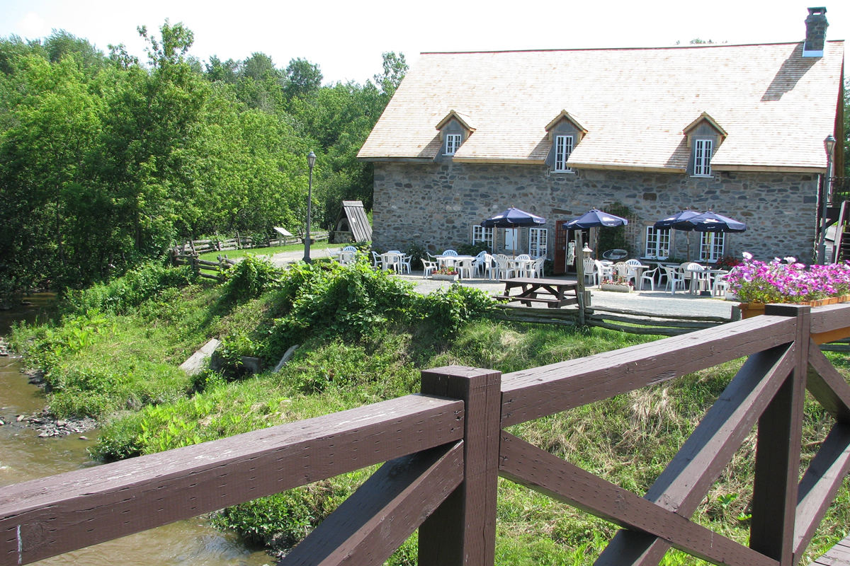
M 408 395 L 4 488 L 0 564 L 31 563 L 387 462 L 281 564 L 382 564 L 419 529 L 420 566 L 488 565 L 501 475 L 619 524 L 597 564 L 657 564 L 670 547 L 717 564 L 793 566 L 850 470 L 850 386 L 817 345 L 850 336 L 850 305 L 765 316 L 517 373 L 422 372 Z M 645 496 L 507 426 L 746 357 Z M 835 423 L 799 480 L 806 389 Z M 757 426 L 750 546 L 690 520 Z

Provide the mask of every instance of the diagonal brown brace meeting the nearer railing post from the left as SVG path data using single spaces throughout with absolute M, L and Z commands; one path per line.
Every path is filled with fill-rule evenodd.
M 385 463 L 279 566 L 381 566 L 463 480 L 463 441 Z

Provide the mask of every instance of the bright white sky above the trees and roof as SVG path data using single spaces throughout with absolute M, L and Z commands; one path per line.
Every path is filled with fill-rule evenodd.
M 428 51 L 666 47 L 694 37 L 715 42 L 802 41 L 808 6 L 791 0 L 703 2 L 451 2 L 205 0 L 0 0 L 0 36 L 29 39 L 63 29 L 106 51 L 124 43 L 144 59 L 137 25 L 165 21 L 195 32 L 201 60 L 245 59 L 263 52 L 279 68 L 301 57 L 325 81 L 363 82 L 381 70 L 381 53 L 408 63 Z M 826 3 L 827 39 L 847 39 L 850 2 Z M 158 36 L 158 31 L 156 31 Z

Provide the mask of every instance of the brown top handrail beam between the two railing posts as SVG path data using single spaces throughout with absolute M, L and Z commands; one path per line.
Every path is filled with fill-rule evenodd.
M 502 376 L 501 426 L 524 423 L 786 344 L 788 317 L 753 317 Z

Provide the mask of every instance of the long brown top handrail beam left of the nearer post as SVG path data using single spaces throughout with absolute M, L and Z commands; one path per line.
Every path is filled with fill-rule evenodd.
M 31 563 L 195 517 L 462 434 L 462 401 L 406 395 L 11 485 L 0 494 L 0 564 Z

